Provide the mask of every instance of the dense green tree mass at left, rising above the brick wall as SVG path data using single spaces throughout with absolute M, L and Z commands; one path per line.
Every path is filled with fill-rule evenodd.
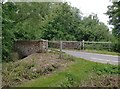
M 2 5 L 3 59 L 10 58 L 16 39 L 41 38 L 41 27 L 46 23 L 47 15 L 50 13 L 49 5 L 49 3 L 17 2 Z

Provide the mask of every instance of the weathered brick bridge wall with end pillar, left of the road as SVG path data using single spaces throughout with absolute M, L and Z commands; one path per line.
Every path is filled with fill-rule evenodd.
M 20 58 L 26 57 L 32 53 L 47 52 L 47 40 L 17 40 L 15 41 L 14 50 L 19 54 Z

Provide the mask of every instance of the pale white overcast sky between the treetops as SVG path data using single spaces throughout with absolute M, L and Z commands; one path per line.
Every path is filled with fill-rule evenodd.
M 70 2 L 72 6 L 80 9 L 80 11 L 85 16 L 88 16 L 91 13 L 97 14 L 99 20 L 108 25 L 109 18 L 104 13 L 107 12 L 107 6 L 111 5 L 110 0 L 66 0 L 66 1 Z

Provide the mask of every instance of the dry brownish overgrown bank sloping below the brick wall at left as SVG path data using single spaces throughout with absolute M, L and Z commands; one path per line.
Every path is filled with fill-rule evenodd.
M 71 57 L 59 59 L 57 53 L 35 53 L 22 60 L 3 64 L 4 87 L 16 86 L 71 64 Z

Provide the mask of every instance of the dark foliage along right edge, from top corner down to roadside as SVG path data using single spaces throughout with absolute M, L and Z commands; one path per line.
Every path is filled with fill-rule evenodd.
M 114 26 L 112 33 L 116 39 L 113 42 L 113 50 L 120 52 L 120 1 L 112 2 L 106 14 L 110 18 L 109 23 Z

